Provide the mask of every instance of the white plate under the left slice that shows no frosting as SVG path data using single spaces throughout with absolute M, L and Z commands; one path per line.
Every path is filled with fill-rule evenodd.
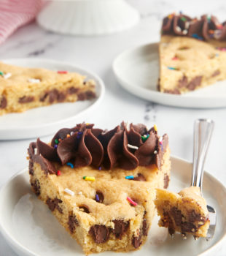
M 23 67 L 43 67 L 52 70 L 79 72 L 96 81 L 96 99 L 73 103 L 58 103 L 47 107 L 33 108 L 24 113 L 0 116 L 0 140 L 36 138 L 50 135 L 62 126 L 73 126 L 88 118 L 104 97 L 104 82 L 98 75 L 74 64 L 47 59 L 8 59 L 7 64 Z

